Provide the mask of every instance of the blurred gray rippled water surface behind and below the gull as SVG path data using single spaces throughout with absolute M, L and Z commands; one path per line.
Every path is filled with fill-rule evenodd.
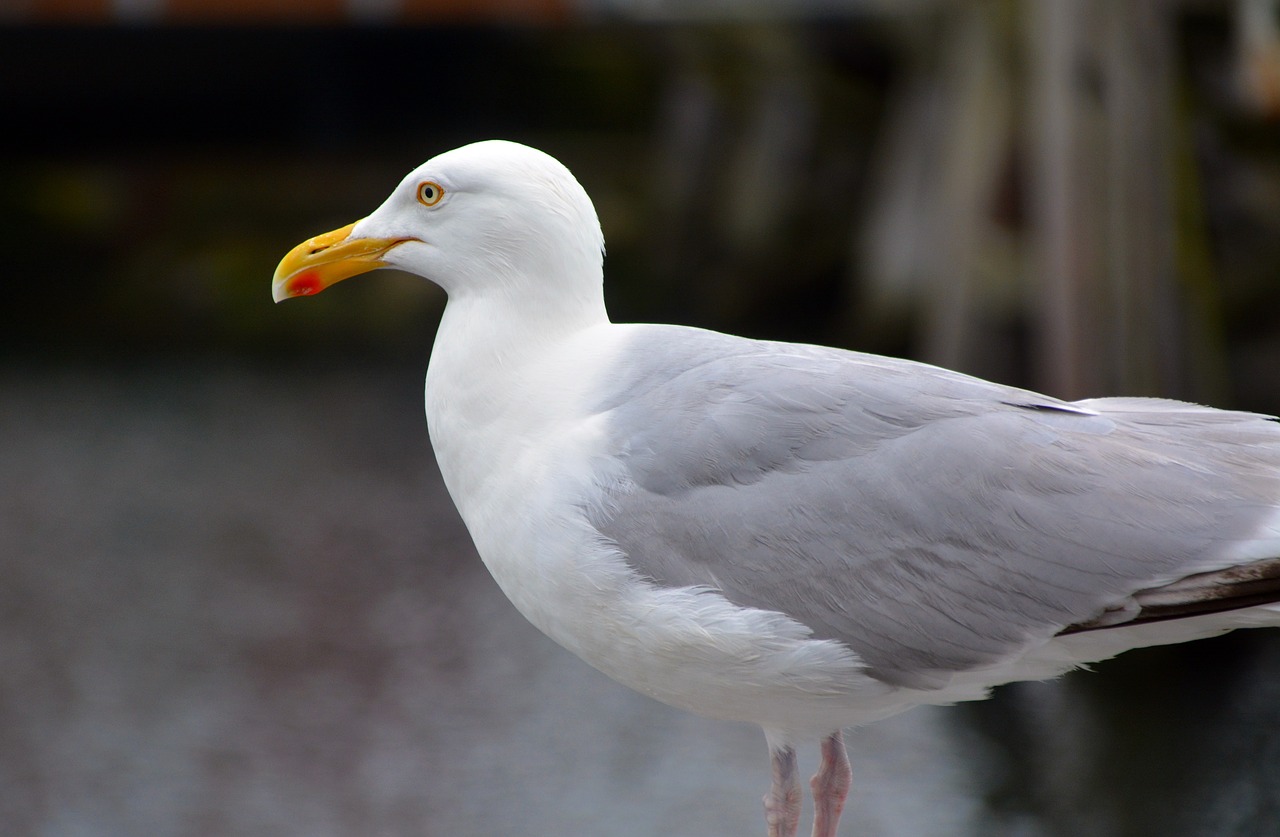
M 758 729 L 614 685 L 506 603 L 420 378 L 0 372 L 0 831 L 763 833 Z M 842 833 L 1276 833 L 1280 645 L 1221 648 L 1092 676 L 1119 703 L 1069 678 L 856 731 Z

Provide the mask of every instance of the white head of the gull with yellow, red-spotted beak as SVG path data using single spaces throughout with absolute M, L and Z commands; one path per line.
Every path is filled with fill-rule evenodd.
M 271 296 L 311 296 L 378 267 L 430 279 L 451 298 L 518 298 L 547 278 L 595 293 L 603 251 L 595 209 L 567 168 L 490 140 L 428 160 L 367 218 L 294 247 L 275 269 Z

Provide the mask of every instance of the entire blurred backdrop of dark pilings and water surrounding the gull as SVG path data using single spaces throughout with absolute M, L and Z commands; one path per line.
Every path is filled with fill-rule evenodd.
M 1280 412 L 1275 0 L 0 0 L 0 114 L 5 834 L 763 833 L 758 729 L 485 575 L 440 292 L 270 302 L 468 141 L 577 174 L 616 320 Z M 1280 833 L 1280 636 L 1096 668 L 852 733 L 845 832 Z

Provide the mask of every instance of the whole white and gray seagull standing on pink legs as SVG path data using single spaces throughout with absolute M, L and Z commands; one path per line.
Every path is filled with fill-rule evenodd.
M 298 244 L 271 292 L 378 267 L 447 292 L 428 430 L 481 559 L 609 677 L 760 726 L 771 837 L 800 827 L 797 746 L 833 837 L 842 729 L 1280 625 L 1275 417 L 614 324 L 603 261 L 570 170 L 485 141 Z

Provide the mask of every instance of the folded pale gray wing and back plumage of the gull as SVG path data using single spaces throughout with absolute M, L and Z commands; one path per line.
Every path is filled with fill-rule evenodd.
M 1280 507 L 1265 416 L 677 326 L 630 349 L 594 525 L 657 584 L 786 613 L 887 682 L 1132 616 Z

